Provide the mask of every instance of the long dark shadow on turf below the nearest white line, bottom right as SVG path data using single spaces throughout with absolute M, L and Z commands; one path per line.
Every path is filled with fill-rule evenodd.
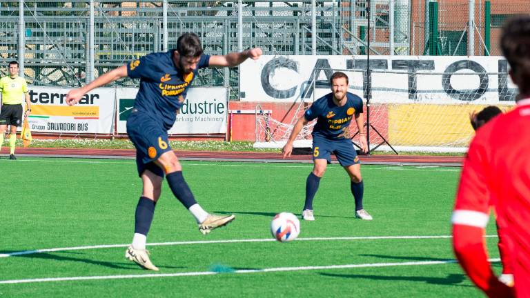
M 473 287 L 471 285 L 461 285 L 462 281 L 466 279 L 462 274 L 450 274 L 447 277 L 415 277 L 415 276 L 381 276 L 381 275 L 343 275 L 335 273 L 324 273 L 320 272 L 319 275 L 325 277 L 341 277 L 341 278 L 352 278 L 352 279 L 372 279 L 372 280 L 383 280 L 383 281 L 422 281 L 427 284 L 437 284 L 444 286 L 463 286 Z

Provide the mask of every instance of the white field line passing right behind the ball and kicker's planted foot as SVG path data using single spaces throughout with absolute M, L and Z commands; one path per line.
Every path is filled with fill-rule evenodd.
M 378 240 L 378 239 L 448 239 L 449 235 L 434 235 L 434 236 L 367 236 L 367 237 L 313 237 L 313 238 L 298 238 L 295 241 L 350 241 L 350 240 Z M 497 237 L 497 235 L 486 235 L 484 237 Z M 177 241 L 177 242 L 159 242 L 150 243 L 148 246 L 179 246 L 179 245 L 196 245 L 196 244 L 233 244 L 244 242 L 271 242 L 276 241 L 272 238 L 265 239 L 231 239 L 231 240 L 208 240 L 208 241 Z M 60 252 L 67 250 L 91 250 L 98 248 L 124 248 L 130 244 L 102 244 L 97 246 L 75 246 L 67 248 L 43 248 L 37 250 L 21 250 L 18 252 L 10 252 L 0 254 L 0 258 L 15 257 L 18 255 L 31 255 L 43 252 Z

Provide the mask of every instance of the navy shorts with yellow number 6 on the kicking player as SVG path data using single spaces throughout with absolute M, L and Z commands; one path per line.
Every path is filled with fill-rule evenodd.
M 150 170 L 160 177 L 164 177 L 164 170 L 157 166 L 154 161 L 160 155 L 171 150 L 168 141 L 168 131 L 165 130 L 160 121 L 151 117 L 141 115 L 133 110 L 127 119 L 127 135 L 136 148 L 136 166 L 138 175 L 145 170 Z

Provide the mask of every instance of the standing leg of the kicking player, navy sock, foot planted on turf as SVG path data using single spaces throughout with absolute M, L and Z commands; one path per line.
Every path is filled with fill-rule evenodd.
M 160 197 L 162 179 L 162 177 L 155 175 L 150 170 L 145 170 L 142 173 L 143 190 L 136 206 L 135 235 L 133 236 L 133 244 L 125 252 L 125 257 L 130 261 L 134 261 L 142 268 L 155 271 L 158 271 L 158 268 L 149 259 L 149 252 L 146 250 L 146 240 L 149 228 L 153 222 L 155 206 Z

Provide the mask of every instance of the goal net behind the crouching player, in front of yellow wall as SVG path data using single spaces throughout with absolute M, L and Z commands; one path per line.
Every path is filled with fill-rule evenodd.
M 363 86 L 363 74 L 366 72 L 340 71 L 349 76 L 349 92 L 363 99 L 366 123 L 366 83 Z M 515 86 L 508 80 L 507 74 L 498 72 L 373 70 L 371 81 L 370 148 L 384 151 L 391 151 L 390 144 L 398 152 L 465 152 L 474 135 L 469 123 L 470 113 L 486 106 L 510 110 L 516 95 Z M 313 87 L 314 84 L 307 88 Z M 314 91 L 309 99 L 297 98 L 291 117 L 284 117 L 287 120 L 281 121 L 272 117 L 274 114 L 257 112 L 255 147 L 284 146 L 296 120 L 304 115 L 314 100 L 331 92 L 329 87 L 315 88 Z M 314 124 L 315 121 L 304 127 L 297 136 L 295 147 L 311 147 Z M 352 135 L 357 132 L 355 121 L 351 121 L 350 131 Z M 357 137 L 353 137 L 354 143 L 357 143 Z

